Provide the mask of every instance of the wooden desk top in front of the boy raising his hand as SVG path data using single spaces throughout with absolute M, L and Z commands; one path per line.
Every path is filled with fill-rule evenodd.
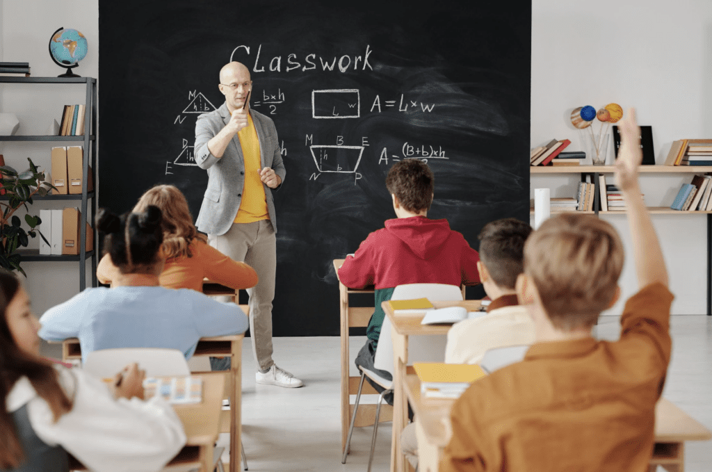
M 444 447 L 449 441 L 450 409 L 454 399 L 422 399 L 420 380 L 416 374 L 406 374 L 404 389 L 414 413 L 421 421 L 431 444 Z M 655 406 L 655 441 L 708 441 L 712 432 L 698 423 L 673 402 L 661 398 Z

